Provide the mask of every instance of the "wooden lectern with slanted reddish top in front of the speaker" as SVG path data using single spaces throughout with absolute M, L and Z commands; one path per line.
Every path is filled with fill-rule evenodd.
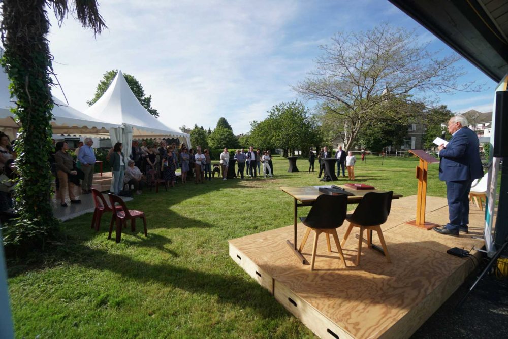
M 409 152 L 420 159 L 420 164 L 416 167 L 416 177 L 418 178 L 416 220 L 409 221 L 407 224 L 429 230 L 439 225 L 425 222 L 425 205 L 427 202 L 427 167 L 429 163 L 439 162 L 439 160 L 427 154 L 424 150 L 409 150 Z

